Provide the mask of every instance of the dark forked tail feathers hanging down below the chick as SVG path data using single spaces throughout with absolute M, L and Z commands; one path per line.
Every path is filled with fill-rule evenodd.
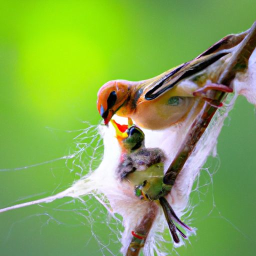
M 177 217 L 174 210 L 171 208 L 168 201 L 164 197 L 160 197 L 159 202 L 162 206 L 162 209 L 163 209 L 163 212 L 167 220 L 169 230 L 174 242 L 176 243 L 179 242 L 179 238 L 177 236 L 176 230 L 180 233 L 181 236 L 183 236 L 184 238 L 187 238 L 186 235 L 174 224 L 173 220 L 176 221 L 180 226 L 182 226 L 183 228 L 189 231 L 192 231 L 192 229 Z

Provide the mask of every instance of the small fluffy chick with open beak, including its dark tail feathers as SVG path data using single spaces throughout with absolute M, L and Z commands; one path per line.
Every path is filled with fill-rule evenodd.
M 157 200 L 161 205 L 170 233 L 174 242 L 179 242 L 178 231 L 181 236 L 186 235 L 174 224 L 178 223 L 186 230 L 191 228 L 183 223 L 175 214 L 165 195 L 171 189 L 171 185 L 163 183 L 163 163 L 166 159 L 160 148 L 146 148 L 144 146 L 144 133 L 132 124 L 120 125 L 111 120 L 115 130 L 116 138 L 121 147 L 120 163 L 116 169 L 117 178 L 121 182 L 128 182 L 133 188 L 134 195 L 141 200 Z M 138 235 L 133 234 L 138 237 Z

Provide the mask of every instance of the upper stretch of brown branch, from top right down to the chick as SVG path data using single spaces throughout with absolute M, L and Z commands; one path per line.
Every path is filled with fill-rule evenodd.
M 248 31 L 248 34 L 241 42 L 241 45 L 233 53 L 233 56 L 229 60 L 229 63 L 225 70 L 220 75 L 217 83 L 230 86 L 231 81 L 234 79 L 237 72 L 243 72 L 248 66 L 248 59 L 252 51 L 256 47 L 256 22 L 254 22 Z M 226 96 L 226 93 L 219 92 L 217 94 L 217 100 L 222 101 Z M 185 138 L 185 142 L 182 144 L 175 158 L 169 165 L 164 177 L 163 182 L 165 184 L 174 184 L 177 174 L 184 166 L 187 158 L 196 146 L 196 143 L 200 139 L 201 135 L 207 128 L 212 116 L 216 112 L 217 108 L 204 103 L 202 110 L 198 117 L 193 121 L 190 132 Z

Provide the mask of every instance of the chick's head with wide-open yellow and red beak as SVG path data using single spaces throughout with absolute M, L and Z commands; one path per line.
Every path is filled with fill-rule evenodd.
M 130 118 L 128 118 L 128 125 L 121 125 L 113 119 L 111 123 L 115 128 L 116 138 L 122 151 L 132 152 L 144 146 L 144 132 L 134 125 Z

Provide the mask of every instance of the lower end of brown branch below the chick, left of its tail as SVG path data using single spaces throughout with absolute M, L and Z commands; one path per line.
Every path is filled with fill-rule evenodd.
M 142 217 L 139 224 L 135 227 L 135 230 L 132 231 L 133 236 L 127 248 L 126 256 L 137 256 L 139 254 L 152 227 L 157 211 L 157 204 L 154 201 L 148 202 L 148 212 Z

